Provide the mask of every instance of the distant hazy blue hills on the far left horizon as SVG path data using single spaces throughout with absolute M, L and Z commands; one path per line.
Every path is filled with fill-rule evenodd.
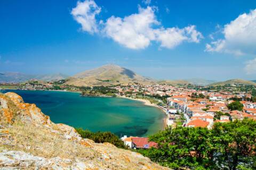
M 61 73 L 32 75 L 32 74 L 24 74 L 19 72 L 5 72 L 5 73 L 0 73 L 0 82 L 19 83 L 19 82 L 28 81 L 31 79 L 53 81 L 53 80 L 66 79 L 67 77 L 68 75 L 61 74 Z

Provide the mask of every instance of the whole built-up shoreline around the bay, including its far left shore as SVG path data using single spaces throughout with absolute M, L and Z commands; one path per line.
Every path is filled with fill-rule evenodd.
M 59 82 L 61 83 L 61 81 Z M 10 85 L 10 84 L 9 84 Z M 62 90 L 81 92 L 81 96 L 122 97 L 139 100 L 145 105 L 155 106 L 166 114 L 164 128 L 178 126 L 211 129 L 214 123 L 230 122 L 251 118 L 256 120 L 256 90 L 254 86 L 228 84 L 225 86 L 193 86 L 170 84 L 142 85 L 131 83 L 126 86 L 75 87 L 48 82 L 27 82 L 23 90 Z M 150 148 L 156 143 L 147 137 L 122 137 L 130 148 Z

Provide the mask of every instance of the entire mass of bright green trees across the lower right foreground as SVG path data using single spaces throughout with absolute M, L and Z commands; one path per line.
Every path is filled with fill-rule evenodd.
M 255 169 L 256 121 L 215 123 L 206 128 L 179 127 L 149 137 L 158 148 L 138 150 L 173 169 Z

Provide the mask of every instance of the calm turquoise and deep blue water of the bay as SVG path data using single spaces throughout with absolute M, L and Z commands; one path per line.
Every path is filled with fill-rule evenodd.
M 26 103 L 35 103 L 54 123 L 118 136 L 147 136 L 163 129 L 164 113 L 140 101 L 124 98 L 80 97 L 75 92 L 8 90 Z

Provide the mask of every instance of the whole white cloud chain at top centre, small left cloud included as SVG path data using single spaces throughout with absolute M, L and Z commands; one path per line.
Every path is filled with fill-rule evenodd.
M 161 22 L 156 19 L 156 9 L 157 7 L 142 8 L 139 6 L 138 13 L 124 18 L 111 16 L 106 22 L 100 21 L 100 32 L 131 49 L 144 49 L 150 45 L 151 41 L 160 43 L 161 47 L 174 48 L 185 41 L 199 43 L 203 38 L 202 33 L 196 30 L 195 25 L 189 25 L 185 28 L 164 28 Z M 91 0 L 86 0 L 83 3 L 78 2 L 71 12 L 75 19 L 76 16 L 82 18 L 79 20 L 80 22 L 77 19 L 76 21 L 82 25 L 84 31 L 89 33 L 98 32 L 99 27 L 95 15 L 99 13 L 100 7 Z

